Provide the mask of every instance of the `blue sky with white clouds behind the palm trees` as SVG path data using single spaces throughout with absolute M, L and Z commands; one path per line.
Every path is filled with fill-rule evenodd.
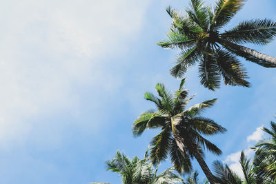
M 155 45 L 166 37 L 169 5 L 182 10 L 188 1 L 2 2 L 0 183 L 121 183 L 104 161 L 116 150 L 144 155 L 156 132 L 131 134 L 132 121 L 154 107 L 144 92 L 155 92 L 158 82 L 171 90 L 179 84 L 168 73 L 177 51 Z M 243 19 L 276 20 L 275 8 L 273 0 L 250 0 L 227 28 Z M 276 41 L 248 46 L 276 56 Z M 274 119 L 275 69 L 242 61 L 252 88 L 210 92 L 196 67 L 186 74 L 186 87 L 197 93 L 190 105 L 218 98 L 204 116 L 228 129 L 210 138 L 224 154 L 206 154 L 208 165 L 219 159 L 238 170 L 240 150 L 264 137 L 258 127 Z

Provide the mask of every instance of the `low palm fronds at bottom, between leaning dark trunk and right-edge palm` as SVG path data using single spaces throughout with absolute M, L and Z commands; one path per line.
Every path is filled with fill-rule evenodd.
M 242 177 L 236 172 L 233 172 L 230 167 L 225 164 L 223 165 L 220 161 L 215 161 L 215 174 L 219 180 L 219 183 L 226 184 L 272 184 L 273 182 L 269 177 L 260 174 L 256 170 L 256 163 L 250 162 L 250 160 L 245 156 L 244 152 L 241 152 L 239 159 L 240 167 L 242 168 Z

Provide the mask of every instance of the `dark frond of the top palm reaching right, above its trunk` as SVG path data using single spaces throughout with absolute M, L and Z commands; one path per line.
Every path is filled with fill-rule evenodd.
M 221 39 L 234 43 L 267 44 L 276 35 L 276 22 L 269 19 L 242 21 L 232 30 L 220 34 Z

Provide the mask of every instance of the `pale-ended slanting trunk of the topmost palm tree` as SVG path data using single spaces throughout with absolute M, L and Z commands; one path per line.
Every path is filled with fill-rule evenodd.
M 218 42 L 221 45 L 224 45 L 226 48 L 228 48 L 228 47 L 233 48 L 233 49 L 237 50 L 238 52 L 244 52 L 244 53 L 249 54 L 259 60 L 266 61 L 266 62 L 276 66 L 276 57 L 271 57 L 269 55 L 262 54 L 261 52 L 257 52 L 257 50 L 246 48 L 242 45 L 237 45 L 230 41 L 219 39 Z

